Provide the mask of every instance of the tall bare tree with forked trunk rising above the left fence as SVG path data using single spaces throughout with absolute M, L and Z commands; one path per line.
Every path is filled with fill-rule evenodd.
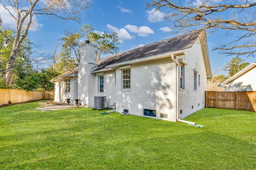
M 16 36 L 14 37 L 12 53 L 4 75 L 6 84 L 10 85 L 16 55 L 22 41 L 28 35 L 30 27 L 32 27 L 34 17 L 48 15 L 62 20 L 79 21 L 80 13 L 86 8 L 90 8 L 91 0 L 4 0 L 2 5 L 16 20 Z

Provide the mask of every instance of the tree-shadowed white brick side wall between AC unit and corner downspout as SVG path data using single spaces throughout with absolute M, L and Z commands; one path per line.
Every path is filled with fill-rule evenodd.
M 122 70 L 116 70 L 116 109 L 143 116 L 143 109 L 156 110 L 156 118 L 176 121 L 176 67 L 163 59 L 131 68 L 131 89 L 122 90 Z M 160 113 L 168 118 L 160 117 Z M 154 117 L 152 117 L 154 118 Z

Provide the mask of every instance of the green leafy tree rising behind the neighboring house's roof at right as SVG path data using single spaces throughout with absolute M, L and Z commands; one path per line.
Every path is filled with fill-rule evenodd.
M 241 58 L 232 58 L 230 62 L 226 63 L 226 66 L 224 66 L 223 70 L 227 71 L 229 76 L 234 76 L 237 72 L 242 70 L 244 67 L 248 66 L 249 63 L 243 63 L 244 59 Z

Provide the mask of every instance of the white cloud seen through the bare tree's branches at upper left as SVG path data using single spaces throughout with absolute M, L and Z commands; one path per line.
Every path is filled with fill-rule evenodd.
M 10 13 L 8 12 L 8 10 L 12 13 L 13 16 L 16 16 L 16 12 L 14 9 L 11 8 L 11 6 L 7 6 L 8 10 L 6 10 L 2 4 L 0 6 L 1 8 L 1 19 L 3 21 L 2 25 L 6 26 L 6 27 L 10 27 L 12 29 L 16 29 L 16 21 L 14 20 L 14 18 L 12 18 L 12 16 L 10 15 Z M 25 7 L 24 7 L 25 8 Z M 25 20 L 25 24 L 26 24 Z M 36 16 L 33 16 L 32 18 L 32 24 L 30 25 L 30 31 L 32 32 L 36 32 L 39 29 L 41 29 L 44 26 L 44 24 L 39 23 Z

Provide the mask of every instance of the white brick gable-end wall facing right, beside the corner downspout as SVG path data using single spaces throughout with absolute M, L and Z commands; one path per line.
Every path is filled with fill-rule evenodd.
M 179 110 L 182 110 L 182 114 L 179 115 L 180 119 L 204 108 L 204 91 L 206 91 L 207 87 L 204 58 L 198 41 L 195 42 L 190 51 L 185 51 L 185 55 L 182 58 L 188 63 L 184 66 L 185 89 L 179 91 Z M 196 91 L 194 91 L 194 68 L 198 70 Z M 200 86 L 198 86 L 198 74 L 200 74 Z

